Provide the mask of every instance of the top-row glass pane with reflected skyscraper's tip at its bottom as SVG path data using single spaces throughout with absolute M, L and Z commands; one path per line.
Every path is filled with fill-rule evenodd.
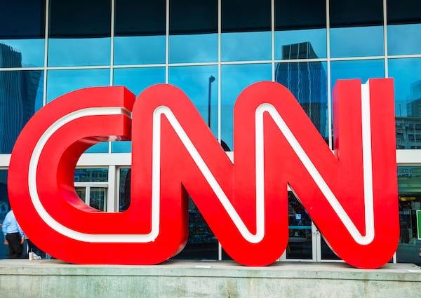
M 305 7 L 306 9 L 302 9 Z M 327 57 L 326 1 L 275 1 L 275 59 Z M 290 46 L 309 43 L 312 55 L 291 53 Z M 286 49 L 285 49 L 286 48 Z M 288 54 L 288 55 L 287 55 Z

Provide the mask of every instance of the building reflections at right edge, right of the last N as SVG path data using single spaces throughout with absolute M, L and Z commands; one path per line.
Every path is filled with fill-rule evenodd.
M 401 106 L 399 104 L 399 110 Z M 396 116 L 396 149 L 421 149 L 421 81 L 410 85 L 407 117 Z

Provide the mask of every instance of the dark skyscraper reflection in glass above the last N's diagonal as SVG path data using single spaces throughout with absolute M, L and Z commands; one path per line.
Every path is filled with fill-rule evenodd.
M 317 55 L 309 42 L 282 46 L 283 60 L 316 58 Z M 293 93 L 319 133 L 326 137 L 328 94 L 327 77 L 322 63 L 280 62 L 276 66 L 275 81 Z

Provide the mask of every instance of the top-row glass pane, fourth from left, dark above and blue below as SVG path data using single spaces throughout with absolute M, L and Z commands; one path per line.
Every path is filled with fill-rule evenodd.
M 218 1 L 171 0 L 170 63 L 218 61 Z

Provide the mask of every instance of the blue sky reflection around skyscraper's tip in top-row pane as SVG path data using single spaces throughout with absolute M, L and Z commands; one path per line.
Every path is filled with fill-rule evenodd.
M 275 32 L 275 59 L 282 59 L 282 46 L 309 41 L 317 57 L 326 58 L 326 29 L 287 30 Z

